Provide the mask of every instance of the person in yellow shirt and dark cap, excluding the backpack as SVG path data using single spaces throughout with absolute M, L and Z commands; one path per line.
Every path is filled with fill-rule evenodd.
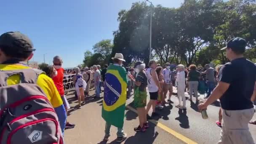
M 0 36 L 0 70 L 13 71 L 20 69 L 32 69 L 26 63 L 33 56 L 33 44 L 26 35 L 20 32 L 6 32 Z M 20 75 L 8 77 L 7 84 L 15 85 L 20 82 Z M 59 92 L 53 80 L 42 73 L 37 78 L 37 85 L 43 90 L 51 102 L 59 118 L 61 131 L 64 134 L 67 114 Z

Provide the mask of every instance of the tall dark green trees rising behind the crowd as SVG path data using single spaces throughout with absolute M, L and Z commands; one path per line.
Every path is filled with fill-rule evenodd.
M 247 41 L 245 56 L 256 62 L 256 0 L 184 0 L 179 8 L 133 3 L 118 13 L 113 44 L 96 43 L 86 59 L 97 53 L 93 62 L 108 63 L 115 53 L 123 53 L 127 64 L 147 63 L 151 13 L 152 54 L 160 63 L 224 64 L 228 60 L 220 49 L 233 37 Z

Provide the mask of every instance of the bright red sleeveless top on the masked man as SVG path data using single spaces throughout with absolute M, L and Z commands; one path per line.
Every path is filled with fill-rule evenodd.
M 53 77 L 53 82 L 56 85 L 56 88 L 58 88 L 59 94 L 61 96 L 64 96 L 64 87 L 63 87 L 63 77 L 64 77 L 64 69 L 61 67 L 60 69 L 56 69 L 58 74 L 56 77 Z

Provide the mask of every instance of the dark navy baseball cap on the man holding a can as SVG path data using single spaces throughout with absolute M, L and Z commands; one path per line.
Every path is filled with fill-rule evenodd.
M 231 48 L 232 51 L 243 53 L 246 47 L 246 40 L 240 37 L 232 38 L 227 43 L 225 48 L 221 48 L 221 50 L 225 50 L 226 48 Z

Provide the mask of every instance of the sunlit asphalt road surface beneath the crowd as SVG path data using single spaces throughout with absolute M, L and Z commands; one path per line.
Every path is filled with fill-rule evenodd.
M 174 91 L 176 88 L 174 88 Z M 93 93 L 93 91 L 91 91 Z M 103 96 L 103 93 L 101 93 Z M 133 97 L 133 96 L 132 96 Z M 187 96 L 189 97 L 189 96 Z M 203 96 L 200 96 L 203 99 Z M 111 130 L 109 141 L 102 141 L 104 137 L 105 122 L 101 118 L 102 99 L 88 99 L 82 109 L 77 109 L 77 100 L 74 95 L 67 96 L 71 109 L 68 110 L 68 121 L 75 123 L 76 127 L 67 129 L 64 134 L 65 144 L 115 144 L 116 128 Z M 145 133 L 136 133 L 133 128 L 138 126 L 138 115 L 134 112 L 132 101 L 127 100 L 128 108 L 124 123 L 124 131 L 128 139 L 122 144 L 183 144 L 186 139 L 198 144 L 216 144 L 219 140 L 221 128 L 215 121 L 218 119 L 219 103 L 211 105 L 207 109 L 208 119 L 203 119 L 198 112 L 197 104 L 187 100 L 187 110 L 181 111 L 175 107 L 178 104 L 176 96 L 172 96 L 174 104 L 166 104 L 157 112 L 160 117 L 154 117 L 150 122 L 150 128 Z M 148 96 L 149 100 L 149 96 Z M 195 101 L 195 99 L 193 99 Z M 149 115 L 151 111 L 149 112 Z M 256 116 L 253 117 L 256 119 Z M 157 124 L 158 123 L 158 124 Z M 155 125 L 157 124 L 157 126 Z M 252 136 L 256 136 L 256 126 L 249 125 Z M 256 141 L 256 137 L 254 137 Z M 187 142 L 191 143 L 191 142 Z

